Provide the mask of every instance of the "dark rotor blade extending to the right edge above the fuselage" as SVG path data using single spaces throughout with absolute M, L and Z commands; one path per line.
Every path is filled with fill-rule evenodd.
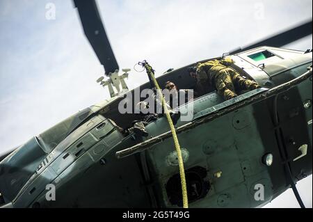
M 271 47 L 282 47 L 310 34 L 312 34 L 312 19 L 292 29 L 278 33 L 277 35 L 273 35 L 270 38 L 266 38 L 265 40 L 261 40 L 243 48 L 234 49 L 233 51 L 230 51 L 230 54 L 237 54 L 240 51 L 246 51 L 264 45 Z

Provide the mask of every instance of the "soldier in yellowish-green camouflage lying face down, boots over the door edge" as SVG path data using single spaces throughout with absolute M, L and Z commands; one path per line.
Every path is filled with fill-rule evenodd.
M 237 96 L 235 86 L 238 90 L 254 90 L 261 88 L 259 84 L 250 79 L 244 79 L 234 69 L 230 68 L 234 61 L 227 57 L 221 60 L 211 60 L 198 63 L 196 67 L 188 69 L 191 77 L 197 79 L 199 84 L 211 84 L 215 86 L 218 94 L 223 95 L 225 100 Z

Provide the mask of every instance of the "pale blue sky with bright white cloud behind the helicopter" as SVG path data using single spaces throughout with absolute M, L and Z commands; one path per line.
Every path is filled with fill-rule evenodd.
M 98 0 L 130 88 L 147 60 L 157 76 L 255 42 L 312 18 L 312 0 Z M 53 11 L 55 13 L 53 13 Z M 51 14 L 52 12 L 52 14 Z M 312 35 L 286 46 L 312 49 Z M 104 73 L 70 0 L 0 0 L 0 153 L 109 98 Z M 298 182 L 312 207 L 312 176 Z M 291 189 L 266 207 L 298 207 Z

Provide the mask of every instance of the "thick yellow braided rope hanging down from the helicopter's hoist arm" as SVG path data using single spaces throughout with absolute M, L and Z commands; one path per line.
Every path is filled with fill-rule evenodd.
M 154 86 L 157 88 L 157 95 L 159 95 L 159 100 L 161 100 L 162 102 L 164 112 L 166 113 L 166 118 L 168 119 L 168 125 L 170 125 L 170 131 L 172 132 L 172 138 L 174 140 L 175 149 L 177 152 L 180 180 L 182 182 L 183 207 L 188 208 L 188 196 L 187 196 L 186 177 L 185 177 L 185 171 L 184 171 L 184 161 L 182 159 L 182 151 L 180 150 L 175 127 L 172 123 L 172 118 L 170 118 L 170 112 L 168 111 L 168 107 L 166 106 L 166 101 L 164 100 L 163 94 L 161 92 L 161 88 L 157 82 L 157 79 L 155 79 L 154 74 L 152 72 L 152 68 L 148 63 L 144 63 L 144 65 L 145 65 L 145 69 L 147 70 L 147 74 L 150 75 L 150 77 L 152 78 L 154 82 Z

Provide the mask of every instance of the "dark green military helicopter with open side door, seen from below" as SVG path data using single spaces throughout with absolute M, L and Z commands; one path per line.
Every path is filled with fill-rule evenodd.
M 82 23 L 98 15 L 95 1 L 75 3 Z M 99 25 L 99 17 L 96 21 L 92 24 Z M 118 65 L 114 59 L 107 62 L 108 54 L 109 58 L 115 58 L 111 47 L 101 50 L 109 46 L 102 26 L 94 29 L 83 24 L 85 32 L 98 30 L 96 36 L 103 35 L 90 43 L 111 79 L 107 81 L 110 86 L 114 83 L 112 77 L 119 78 L 115 71 Z M 301 33 L 294 38 L 298 39 L 307 31 L 312 32 L 312 21 L 272 38 L 273 42 L 267 40 L 267 44 L 261 42 L 232 51 L 235 64 L 240 64 L 234 68 L 265 87 L 225 102 L 211 89 L 193 101 L 193 120 L 178 122 L 179 141 L 185 148 L 191 207 L 258 207 L 293 187 L 294 180 L 312 174 L 312 51 L 278 48 L 287 43 L 282 42 L 282 36 Z M 282 60 L 286 63 L 282 64 Z M 170 80 L 181 88 L 194 88 L 192 79 L 182 78 L 191 65 L 195 63 L 167 72 L 158 81 L 164 84 Z M 99 79 L 101 84 L 102 80 Z M 149 84 L 141 86 L 149 87 Z M 123 136 L 108 120 L 111 118 L 125 127 L 136 118 L 118 113 L 117 106 L 124 93 L 111 95 L 102 104 L 90 106 L 31 138 L 1 161 L 0 192 L 6 207 L 182 205 L 177 192 L 176 156 L 166 120 L 160 118 L 147 125 L 152 138 L 138 143 L 134 135 Z M 255 116 L 262 116 L 262 120 Z M 296 126 L 295 129 L 291 130 L 290 125 Z M 225 129 L 230 138 L 217 133 Z M 212 134 L 200 135 L 199 131 Z M 267 166 L 269 154 L 274 161 Z M 45 200 L 46 184 L 55 184 L 60 198 Z M 262 201 L 253 199 L 255 184 L 265 187 Z

